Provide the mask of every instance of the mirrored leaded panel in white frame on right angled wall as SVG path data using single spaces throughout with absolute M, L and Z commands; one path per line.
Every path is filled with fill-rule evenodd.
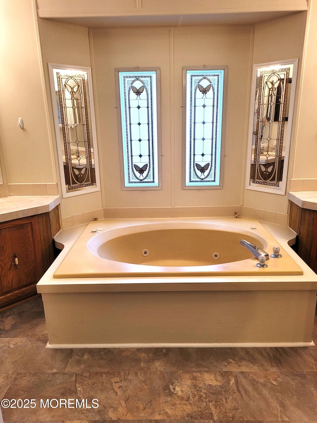
M 296 70 L 297 60 L 255 65 L 249 163 L 249 186 L 253 189 L 285 191 Z

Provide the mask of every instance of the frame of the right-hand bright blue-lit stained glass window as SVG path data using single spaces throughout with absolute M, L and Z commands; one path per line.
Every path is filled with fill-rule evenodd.
M 221 133 L 219 137 L 220 149 L 217 151 L 217 156 L 219 160 L 219 169 L 216 183 L 195 183 L 195 185 L 188 185 L 186 181 L 186 166 L 187 166 L 187 71 L 223 71 L 223 80 L 222 80 L 222 109 L 219 113 L 221 119 Z M 202 73 L 202 75 L 204 75 Z M 182 189 L 222 189 L 223 188 L 223 157 L 224 157 L 224 144 L 225 144 L 225 117 L 226 117 L 226 101 L 227 101 L 227 84 L 228 84 L 228 66 L 183 66 L 183 178 L 182 178 Z

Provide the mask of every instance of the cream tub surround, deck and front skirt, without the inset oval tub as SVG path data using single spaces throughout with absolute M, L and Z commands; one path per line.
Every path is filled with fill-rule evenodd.
M 53 277 L 85 227 L 62 231 L 37 285 L 47 348 L 313 346 L 317 275 L 288 246 L 293 231 L 264 225 L 302 274 Z

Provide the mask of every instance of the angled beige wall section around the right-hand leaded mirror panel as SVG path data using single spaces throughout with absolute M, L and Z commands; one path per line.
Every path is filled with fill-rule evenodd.
M 297 92 L 299 90 L 302 66 L 306 15 L 306 12 L 300 12 L 255 26 L 253 64 L 299 57 Z M 297 142 L 295 137 L 296 120 L 297 102 L 295 104 L 290 158 L 292 158 L 295 152 Z M 291 166 L 288 171 L 289 175 L 290 169 Z M 269 194 L 246 189 L 244 191 L 244 206 L 286 213 L 288 209 L 287 189 L 286 195 Z

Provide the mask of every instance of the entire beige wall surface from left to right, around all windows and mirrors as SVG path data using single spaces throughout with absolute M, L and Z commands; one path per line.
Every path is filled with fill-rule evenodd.
M 51 0 L 40 3 L 52 10 L 55 4 Z M 229 3 L 232 8 L 233 2 Z M 48 62 L 55 62 L 93 67 L 102 175 L 101 192 L 62 201 L 63 216 L 102 207 L 238 204 L 286 212 L 286 196 L 245 190 L 251 71 L 252 63 L 301 59 L 306 12 L 258 24 L 255 28 L 223 25 L 117 28 L 93 29 L 90 33 L 84 27 L 39 19 L 39 51 L 34 4 L 35 0 L 0 1 L 0 139 L 1 164 L 7 183 L 59 182 L 54 129 L 50 123 L 53 120 L 47 69 Z M 77 2 L 72 4 L 78 6 Z M 113 2 L 113 7 L 116 4 Z M 140 3 L 137 1 L 136 4 Z M 246 10 L 251 7 L 248 4 L 247 1 Z M 289 177 L 293 178 L 317 177 L 316 130 L 311 123 L 315 121 L 317 108 L 314 107 L 317 101 L 317 10 L 313 8 L 312 3 L 303 65 L 300 60 L 303 68 L 300 103 L 294 122 L 289 172 Z M 39 60 L 41 54 L 43 64 Z M 181 189 L 181 68 L 196 64 L 229 66 L 223 189 Z M 114 68 L 125 66 L 161 68 L 161 191 L 121 190 Z M 43 88 L 45 85 L 46 89 Z M 19 117 L 24 120 L 23 130 L 18 127 Z

